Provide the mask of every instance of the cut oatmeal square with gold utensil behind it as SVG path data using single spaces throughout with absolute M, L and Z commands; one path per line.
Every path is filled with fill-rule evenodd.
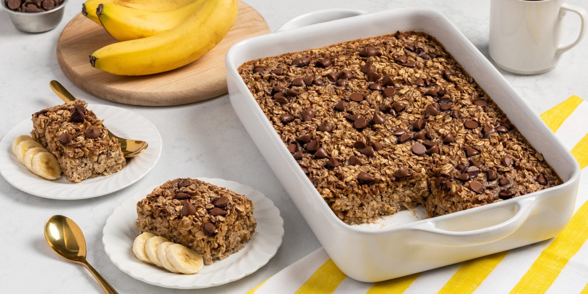
M 121 144 L 79 99 L 32 115 L 31 136 L 57 158 L 69 181 L 110 175 L 125 167 Z

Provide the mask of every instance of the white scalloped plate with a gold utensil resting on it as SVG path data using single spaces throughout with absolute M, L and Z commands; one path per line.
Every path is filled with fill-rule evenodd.
M 155 126 L 135 112 L 109 105 L 90 104 L 99 119 L 104 120 L 108 129 L 123 138 L 145 141 L 149 144 L 141 154 L 127 161 L 119 172 L 108 176 L 85 179 L 81 183 L 70 182 L 62 176 L 48 181 L 29 171 L 12 153 L 12 141 L 20 135 L 29 135 L 31 119 L 25 119 L 0 141 L 0 174 L 6 181 L 22 191 L 44 198 L 84 199 L 106 195 L 125 188 L 143 178 L 159 160 L 161 136 Z

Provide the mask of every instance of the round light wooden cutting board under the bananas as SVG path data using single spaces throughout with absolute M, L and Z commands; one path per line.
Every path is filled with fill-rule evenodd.
M 225 54 L 230 46 L 242 39 L 270 32 L 265 19 L 255 9 L 241 1 L 238 3 L 237 19 L 225 38 L 197 61 L 173 71 L 121 76 L 93 68 L 89 55 L 117 41 L 102 26 L 82 14 L 76 15 L 59 36 L 57 61 L 75 85 L 114 102 L 167 106 L 210 99 L 227 92 Z

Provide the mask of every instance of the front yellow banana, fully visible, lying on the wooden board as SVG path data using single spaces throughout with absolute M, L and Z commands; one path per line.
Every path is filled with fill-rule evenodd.
M 211 51 L 237 17 L 237 0 L 205 0 L 171 31 L 96 50 L 90 64 L 116 75 L 149 75 L 189 64 Z

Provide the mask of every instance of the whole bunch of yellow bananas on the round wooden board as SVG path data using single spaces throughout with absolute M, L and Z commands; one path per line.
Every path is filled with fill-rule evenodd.
M 235 22 L 237 0 L 88 0 L 82 14 L 121 41 L 93 52 L 94 68 L 149 75 L 211 51 Z

